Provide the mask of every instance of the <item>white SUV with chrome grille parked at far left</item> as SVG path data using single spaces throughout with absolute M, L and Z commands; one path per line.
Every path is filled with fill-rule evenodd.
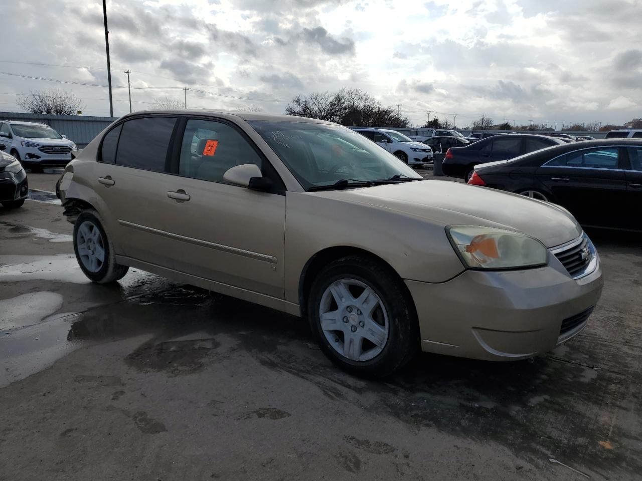
M 76 144 L 47 124 L 37 122 L 0 121 L 0 140 L 5 151 L 32 172 L 42 167 L 67 165 Z

